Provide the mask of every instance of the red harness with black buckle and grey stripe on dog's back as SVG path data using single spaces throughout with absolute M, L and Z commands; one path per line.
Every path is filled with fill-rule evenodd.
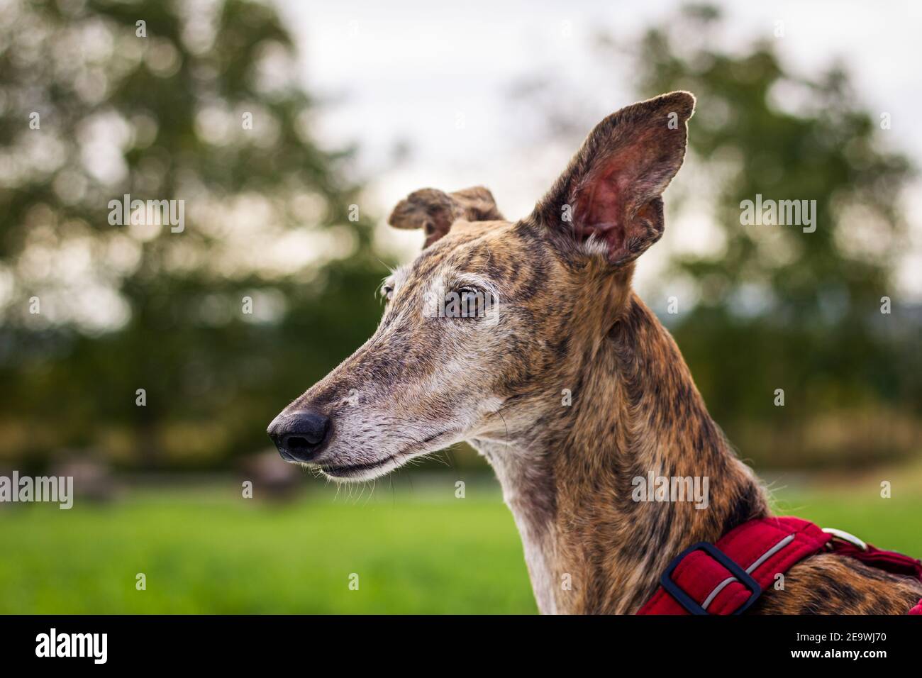
M 774 586 L 779 575 L 814 553 L 847 555 L 874 567 L 922 579 L 922 562 L 881 551 L 839 530 L 823 531 L 798 517 L 750 520 L 716 544 L 700 541 L 680 553 L 638 614 L 739 614 Z M 922 601 L 909 611 L 922 614 Z

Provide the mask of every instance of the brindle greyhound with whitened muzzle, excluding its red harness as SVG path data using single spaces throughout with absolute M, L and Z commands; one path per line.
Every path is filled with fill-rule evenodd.
M 499 478 L 542 613 L 635 613 L 677 553 L 769 517 L 631 286 L 694 103 L 679 91 L 609 115 L 524 219 L 483 187 L 397 205 L 390 223 L 425 246 L 384 281 L 372 338 L 269 425 L 281 456 L 362 481 L 467 441 Z M 453 296 L 474 312 L 444 313 Z M 634 480 L 660 474 L 707 478 L 706 509 L 637 501 Z M 750 611 L 905 613 L 920 596 L 910 577 L 817 553 Z

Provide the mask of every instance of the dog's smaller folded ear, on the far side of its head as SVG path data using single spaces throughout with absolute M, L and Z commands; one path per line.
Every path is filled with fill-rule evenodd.
M 397 203 L 387 223 L 398 229 L 422 229 L 428 247 L 443 237 L 457 220 L 503 220 L 493 194 L 483 186 L 444 193 L 437 188 L 421 188 Z

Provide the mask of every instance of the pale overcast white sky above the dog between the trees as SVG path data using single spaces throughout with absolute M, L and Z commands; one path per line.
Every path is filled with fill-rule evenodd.
M 548 148 L 530 139 L 510 87 L 546 75 L 591 92 L 574 105 L 606 113 L 634 101 L 630 73 L 604 68 L 590 41 L 598 30 L 629 41 L 651 23 L 666 23 L 678 3 L 644 2 L 431 2 L 379 3 L 283 0 L 281 9 L 299 42 L 305 85 L 330 101 L 318 113 L 317 133 L 330 148 L 350 142 L 361 149 L 359 168 L 370 180 L 368 200 L 386 216 L 410 191 L 425 185 L 455 190 L 491 188 L 507 218 L 527 213 L 561 171 L 573 148 Z M 815 75 L 841 60 L 874 112 L 892 114 L 889 137 L 913 161 L 922 157 L 922 83 L 918 75 L 922 3 L 740 2 L 725 6 L 725 47 L 754 38 L 784 37 L 778 54 L 795 72 Z M 588 131 L 586 129 L 585 131 Z M 400 142 L 408 159 L 390 161 Z M 667 194 L 668 201 L 668 194 Z M 899 280 L 922 300 L 922 182 L 907 192 L 911 242 Z M 667 224 L 667 229 L 672 224 Z M 693 215 L 683 241 L 703 240 L 706 224 Z M 387 232 L 401 251 L 419 247 L 420 234 Z M 669 243 L 672 244 L 669 244 Z M 641 280 L 677 241 L 668 238 Z M 656 248 L 654 248 L 656 249 Z

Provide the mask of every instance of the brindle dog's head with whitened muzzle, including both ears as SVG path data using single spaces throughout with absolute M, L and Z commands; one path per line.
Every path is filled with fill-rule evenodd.
M 390 223 L 423 229 L 424 249 L 384 281 L 372 338 L 269 425 L 281 456 L 367 480 L 461 440 L 533 432 L 663 233 L 693 108 L 672 92 L 609 115 L 523 220 L 503 220 L 482 187 L 402 201 Z

